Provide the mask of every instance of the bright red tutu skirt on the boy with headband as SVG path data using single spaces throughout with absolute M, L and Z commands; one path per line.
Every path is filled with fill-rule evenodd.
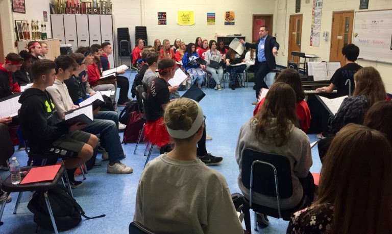
M 145 123 L 144 135 L 151 143 L 159 147 L 171 143 L 163 117 L 157 121 Z

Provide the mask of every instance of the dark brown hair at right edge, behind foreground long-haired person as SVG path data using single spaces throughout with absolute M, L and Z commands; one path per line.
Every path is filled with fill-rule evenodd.
M 392 101 L 379 101 L 366 112 L 363 125 L 385 134 L 392 146 Z

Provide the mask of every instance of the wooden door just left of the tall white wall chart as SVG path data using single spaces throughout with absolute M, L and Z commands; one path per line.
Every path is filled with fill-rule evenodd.
M 297 63 L 298 57 L 291 56 L 291 52 L 301 52 L 302 14 L 290 15 L 290 26 L 288 29 L 288 34 L 287 62 Z

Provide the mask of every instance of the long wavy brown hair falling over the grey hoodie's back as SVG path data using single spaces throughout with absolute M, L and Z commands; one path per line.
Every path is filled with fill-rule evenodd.
M 276 118 L 276 130 L 272 138 L 277 147 L 283 146 L 289 137 L 292 125 L 299 127 L 296 113 L 296 93 L 290 85 L 277 82 L 267 92 L 263 105 L 253 117 L 251 123 L 256 122 L 256 138 L 261 141 L 265 136 L 265 128 Z

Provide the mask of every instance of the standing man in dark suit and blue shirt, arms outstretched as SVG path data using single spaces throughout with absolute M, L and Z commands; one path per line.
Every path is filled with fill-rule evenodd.
M 260 39 L 255 44 L 239 40 L 246 46 L 247 49 L 256 50 L 256 76 L 255 76 L 255 90 L 256 98 L 259 96 L 261 88 L 268 88 L 264 81 L 264 77 L 275 69 L 275 57 L 278 56 L 279 43 L 276 38 L 268 35 L 268 27 L 261 26 L 259 30 Z

